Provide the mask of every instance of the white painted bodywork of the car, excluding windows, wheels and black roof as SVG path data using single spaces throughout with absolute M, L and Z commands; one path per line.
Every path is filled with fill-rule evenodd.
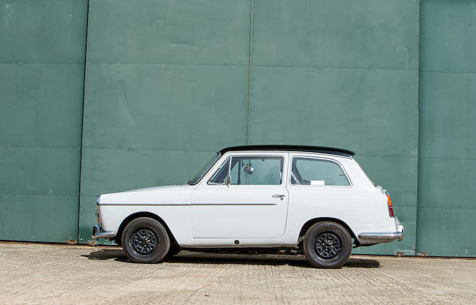
M 284 158 L 282 184 L 209 184 L 208 180 L 230 156 Z M 292 185 L 293 157 L 336 162 L 351 185 Z M 397 219 L 389 215 L 385 191 L 374 186 L 353 157 L 286 150 L 229 151 L 213 164 L 197 185 L 102 194 L 98 198 L 98 210 L 100 225 L 103 231 L 110 233 L 108 237 L 114 237 L 130 215 L 145 212 L 160 217 L 178 245 L 190 248 L 295 247 L 302 227 L 316 218 L 341 221 L 361 245 L 391 242 L 395 238 L 388 235 L 399 229 Z M 383 235 L 383 238 L 359 237 L 371 235 L 366 233 Z

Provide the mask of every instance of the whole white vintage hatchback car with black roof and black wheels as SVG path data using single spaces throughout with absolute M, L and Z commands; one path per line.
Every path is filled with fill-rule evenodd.
M 97 198 L 93 239 L 121 244 L 136 263 L 181 249 L 287 248 L 337 268 L 354 247 L 404 238 L 387 191 L 354 153 L 315 146 L 220 150 L 187 185 Z

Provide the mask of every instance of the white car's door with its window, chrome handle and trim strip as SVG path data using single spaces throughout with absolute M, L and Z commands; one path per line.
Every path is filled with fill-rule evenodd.
M 287 153 L 229 155 L 192 193 L 194 238 L 279 237 L 286 227 Z

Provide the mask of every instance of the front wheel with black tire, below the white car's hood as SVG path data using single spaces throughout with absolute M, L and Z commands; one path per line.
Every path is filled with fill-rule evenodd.
M 159 263 L 167 256 L 170 238 L 159 221 L 141 217 L 125 226 L 121 238 L 125 255 L 134 263 Z

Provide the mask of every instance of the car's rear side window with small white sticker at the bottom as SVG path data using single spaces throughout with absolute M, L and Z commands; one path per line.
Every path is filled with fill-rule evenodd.
M 293 157 L 291 185 L 349 186 L 346 174 L 336 162 L 324 159 Z

